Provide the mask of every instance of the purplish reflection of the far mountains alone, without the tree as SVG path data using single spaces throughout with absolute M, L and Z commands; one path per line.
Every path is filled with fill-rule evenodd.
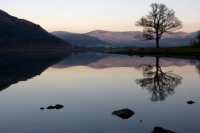
M 70 55 L 65 60 L 59 62 L 53 67 L 58 69 L 65 69 L 75 66 L 87 66 L 94 69 L 134 67 L 138 69 L 146 64 L 155 66 L 155 57 L 139 57 L 102 53 L 77 53 Z M 159 65 L 161 67 L 182 67 L 186 65 L 198 64 L 200 64 L 199 61 L 195 59 L 159 58 Z

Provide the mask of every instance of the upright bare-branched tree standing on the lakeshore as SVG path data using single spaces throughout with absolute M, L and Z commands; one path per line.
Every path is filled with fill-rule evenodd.
M 156 48 L 164 33 L 171 33 L 182 27 L 181 21 L 175 17 L 175 12 L 164 4 L 151 4 L 151 11 L 136 22 L 136 26 L 144 27 L 143 36 L 147 40 L 156 41 Z

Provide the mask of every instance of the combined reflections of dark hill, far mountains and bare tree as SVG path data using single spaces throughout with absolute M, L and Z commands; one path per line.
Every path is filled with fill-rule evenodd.
M 156 58 L 156 61 L 154 60 Z M 2 55 L 0 59 L 0 91 L 19 81 L 25 81 L 36 75 L 40 75 L 49 66 L 63 59 L 52 56 L 8 56 Z M 65 60 L 54 65 L 54 68 L 62 69 L 74 66 L 88 66 L 94 69 L 105 69 L 112 67 L 134 67 L 142 66 L 143 78 L 137 79 L 136 83 L 142 88 L 149 90 L 152 101 L 163 101 L 169 95 L 175 93 L 174 89 L 181 84 L 182 77 L 172 73 L 164 72 L 162 67 L 184 66 L 193 64 L 200 73 L 200 63 L 197 60 L 169 59 L 160 57 L 129 57 L 126 55 L 109 55 L 100 53 L 78 53 L 72 54 Z M 144 65 L 146 64 L 146 65 Z

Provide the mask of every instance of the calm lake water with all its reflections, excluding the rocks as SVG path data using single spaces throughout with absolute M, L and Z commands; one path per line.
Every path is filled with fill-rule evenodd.
M 92 53 L 57 64 L 10 60 L 0 60 L 1 133 L 200 132 L 198 60 Z M 40 110 L 55 104 L 64 108 Z M 112 115 L 125 108 L 135 115 Z

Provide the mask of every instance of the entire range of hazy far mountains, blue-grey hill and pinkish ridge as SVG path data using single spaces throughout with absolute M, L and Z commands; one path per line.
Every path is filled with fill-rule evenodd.
M 61 34 L 53 33 L 57 37 L 60 37 L 64 40 L 71 40 L 72 38 L 69 36 L 62 36 Z M 63 32 L 62 32 L 63 33 Z M 154 40 L 145 40 L 143 38 L 143 33 L 141 31 L 105 31 L 105 30 L 94 30 L 88 33 L 70 33 L 65 32 L 65 34 L 73 35 L 73 41 L 76 43 L 79 42 L 79 46 L 93 46 L 96 47 L 96 44 L 103 44 L 99 46 L 104 46 L 105 44 L 109 44 L 107 46 L 112 47 L 155 47 Z M 76 36 L 74 36 L 76 35 Z M 82 40 L 79 38 L 80 35 L 83 37 Z M 196 32 L 194 33 L 187 33 L 187 32 L 174 32 L 171 34 L 165 34 L 163 39 L 161 40 L 161 47 L 177 47 L 177 46 L 188 46 L 191 45 L 191 41 L 195 37 Z M 98 43 L 95 41 L 86 41 L 87 38 L 92 38 L 92 40 L 98 40 Z M 83 43 L 84 42 L 84 43 Z M 72 42 L 71 42 L 72 43 Z

